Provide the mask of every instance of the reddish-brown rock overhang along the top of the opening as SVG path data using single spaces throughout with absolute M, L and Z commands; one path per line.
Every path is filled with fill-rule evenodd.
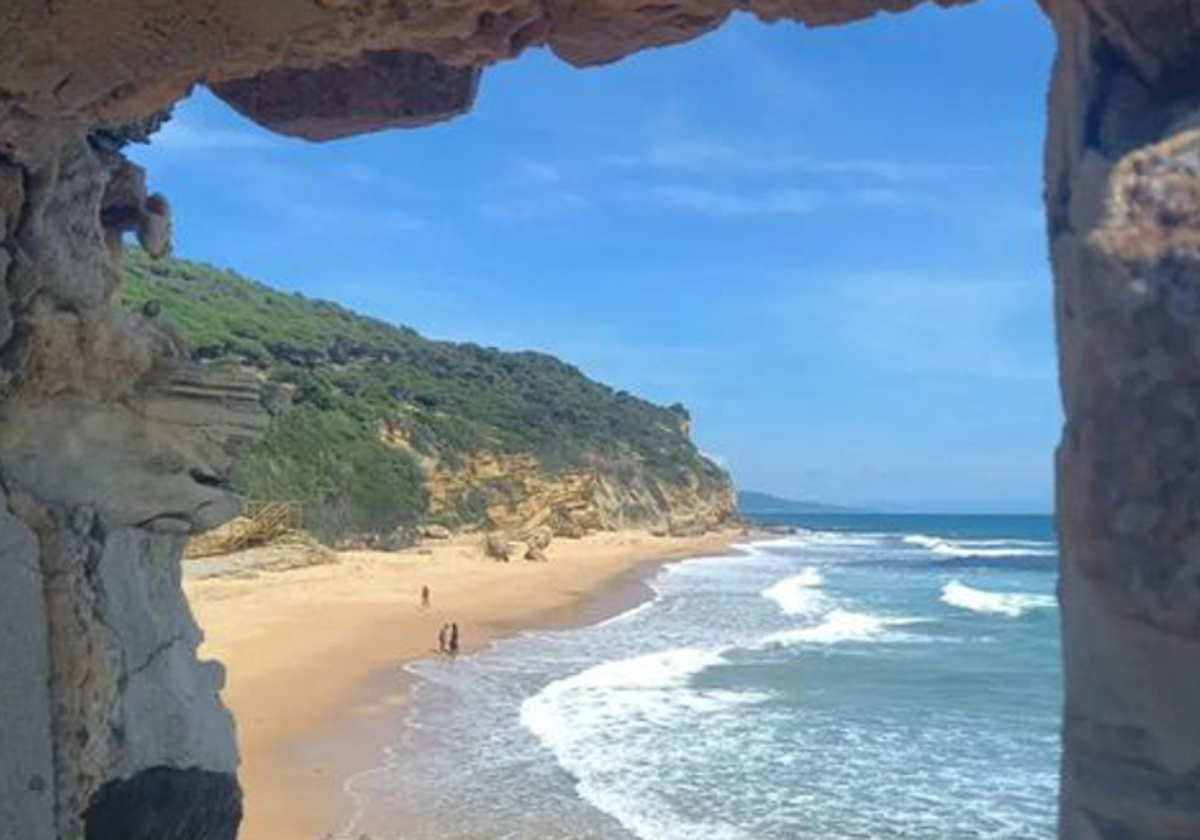
M 0 54 L 0 146 L 28 151 L 47 120 L 142 120 L 199 82 L 268 127 L 330 137 L 461 113 L 470 97 L 454 68 L 529 47 L 592 65 L 688 41 L 742 8 L 830 25 L 925 1 L 968 0 L 12 0 L 0 12 L 14 47 Z

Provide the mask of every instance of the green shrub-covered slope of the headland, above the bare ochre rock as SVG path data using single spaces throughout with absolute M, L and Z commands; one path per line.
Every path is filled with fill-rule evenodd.
M 431 341 L 232 271 L 151 263 L 140 252 L 128 254 L 125 300 L 157 301 L 198 359 L 250 365 L 286 386 L 294 408 L 235 480 L 252 498 L 302 502 L 310 526 L 328 536 L 427 518 L 428 466 L 452 469 L 481 452 L 533 455 L 547 473 L 620 460 L 666 485 L 725 481 L 688 439 L 682 406 L 614 391 L 553 356 Z M 482 517 L 482 503 L 468 499 L 449 524 Z

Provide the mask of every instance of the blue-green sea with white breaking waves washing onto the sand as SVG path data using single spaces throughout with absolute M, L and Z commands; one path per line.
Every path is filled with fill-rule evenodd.
M 625 614 L 412 666 L 348 836 L 1052 838 L 1051 518 L 770 523 Z

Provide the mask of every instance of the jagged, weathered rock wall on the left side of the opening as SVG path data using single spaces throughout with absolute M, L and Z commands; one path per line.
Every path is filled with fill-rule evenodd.
M 234 838 L 233 721 L 182 596 L 187 534 L 266 426 L 253 380 L 110 304 L 166 204 L 64 128 L 0 162 L 0 838 Z M 170 806 L 164 806 L 170 805 Z

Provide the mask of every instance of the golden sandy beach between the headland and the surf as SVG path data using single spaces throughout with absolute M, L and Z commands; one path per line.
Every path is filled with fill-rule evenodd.
M 599 620 L 646 598 L 642 580 L 659 564 L 740 536 L 595 534 L 557 540 L 548 563 L 496 563 L 478 536 L 397 553 L 306 559 L 304 548 L 278 546 L 187 562 L 187 594 L 206 635 L 202 656 L 228 668 L 242 840 L 336 835 L 350 816 L 343 780 L 379 760 L 404 701 L 401 667 L 438 655 L 444 623 L 458 623 L 469 653 L 523 629 Z

